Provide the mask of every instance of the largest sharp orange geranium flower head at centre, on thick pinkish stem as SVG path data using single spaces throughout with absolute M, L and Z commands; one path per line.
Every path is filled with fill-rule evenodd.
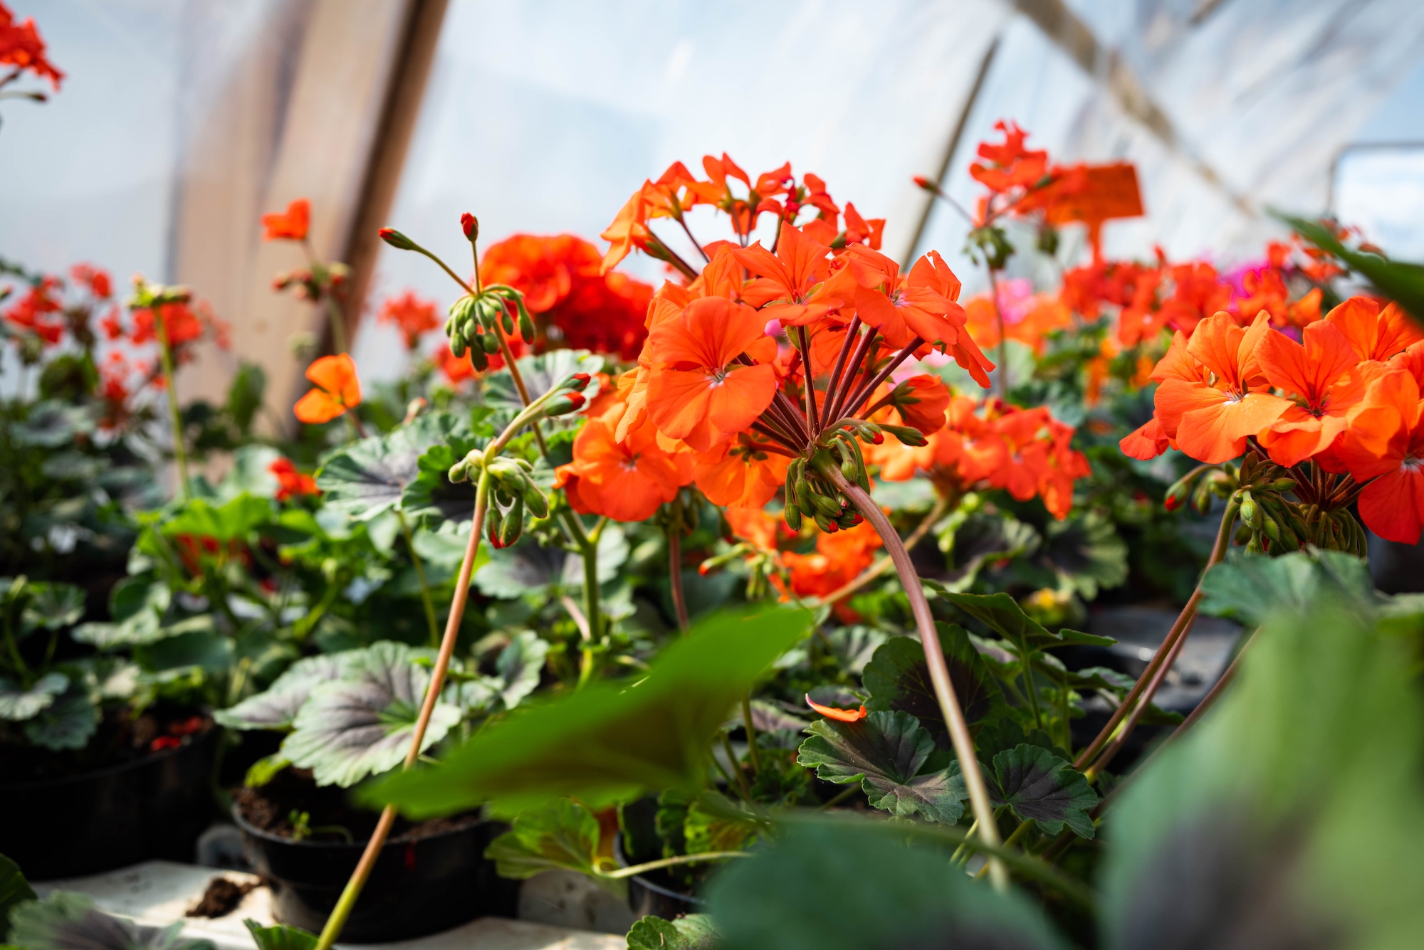
M 792 459 L 809 459 L 836 439 L 869 438 L 874 427 L 857 428 L 863 410 L 911 356 L 940 351 L 988 385 L 994 365 L 964 330 L 960 282 L 937 253 L 901 274 L 871 246 L 877 230 L 862 230 L 849 205 L 846 228 L 837 230 L 840 210 L 813 175 L 797 185 L 786 165 L 750 185 L 725 155 L 708 156 L 703 166 L 716 188 L 675 165 L 658 183 L 645 183 L 605 232 L 614 242 L 605 266 L 634 246 L 656 256 L 661 245 L 639 238 L 629 222 L 681 220 L 681 209 L 712 203 L 732 219 L 736 240 L 696 245 L 706 259 L 702 270 L 652 296 L 638 365 L 618 381 L 621 402 L 590 421 L 575 439 L 574 462 L 560 469 L 581 511 L 646 518 L 689 481 L 718 505 L 759 508 Z M 729 178 L 748 188 L 745 196 L 729 191 Z M 796 225 L 803 206 L 817 215 Z M 762 213 L 779 225 L 769 249 L 749 243 Z M 910 407 L 921 395 L 906 391 L 894 402 Z M 938 418 L 909 414 L 916 417 L 909 424 L 926 432 L 944 424 L 943 404 Z M 837 521 L 839 528 L 856 523 L 844 509 L 817 518 L 826 521 L 823 530 L 836 530 Z

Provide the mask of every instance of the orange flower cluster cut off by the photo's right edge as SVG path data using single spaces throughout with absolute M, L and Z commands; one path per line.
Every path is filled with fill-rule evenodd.
M 1220 311 L 1178 331 L 1152 371 L 1152 420 L 1122 439 L 1134 458 L 1168 447 L 1206 464 L 1247 445 L 1302 474 L 1306 462 L 1349 474 L 1320 505 L 1358 495 L 1364 523 L 1381 538 L 1415 543 L 1424 528 L 1424 334 L 1396 304 L 1351 297 L 1302 331 L 1272 329 L 1260 311 L 1246 327 Z M 1294 475 L 1293 475 L 1294 476 Z

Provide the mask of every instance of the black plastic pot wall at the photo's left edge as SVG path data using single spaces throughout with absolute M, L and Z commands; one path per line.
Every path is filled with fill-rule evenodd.
M 97 875 L 141 860 L 191 863 L 212 823 L 222 730 L 85 775 L 0 781 L 0 853 L 31 880 Z

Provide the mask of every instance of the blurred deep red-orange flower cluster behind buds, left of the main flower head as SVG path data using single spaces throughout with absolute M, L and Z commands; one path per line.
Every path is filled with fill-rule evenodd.
M 648 336 L 644 314 L 652 287 L 628 274 L 604 273 L 598 249 L 572 235 L 514 235 L 491 245 L 480 280 L 524 294 L 535 317 L 535 353 L 570 347 L 634 360 Z

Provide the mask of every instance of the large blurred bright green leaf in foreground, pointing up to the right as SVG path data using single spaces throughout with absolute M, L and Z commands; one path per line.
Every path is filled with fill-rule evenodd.
M 480 802 L 510 815 L 562 796 L 597 809 L 641 792 L 696 789 L 728 712 L 809 626 L 803 610 L 718 614 L 669 646 L 642 680 L 517 711 L 443 764 L 393 775 L 365 796 L 407 815 Z

